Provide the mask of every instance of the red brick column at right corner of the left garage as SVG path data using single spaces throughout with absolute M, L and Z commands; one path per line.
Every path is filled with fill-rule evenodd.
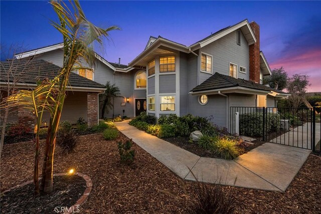
M 87 123 L 89 127 L 98 123 L 98 93 L 87 92 Z

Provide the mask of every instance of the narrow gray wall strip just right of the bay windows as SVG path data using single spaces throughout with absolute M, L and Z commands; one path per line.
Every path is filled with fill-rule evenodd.
M 187 54 L 180 54 L 180 116 L 188 114 Z

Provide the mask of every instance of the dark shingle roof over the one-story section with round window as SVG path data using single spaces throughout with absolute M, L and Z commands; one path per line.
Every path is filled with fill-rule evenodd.
M 254 83 L 249 80 L 236 79 L 230 76 L 219 74 L 217 72 L 213 74 L 211 77 L 209 77 L 207 80 L 205 80 L 203 83 L 193 88 L 190 92 L 201 92 L 201 91 L 225 89 L 225 88 L 231 88 L 231 87 L 243 87 L 243 88 L 261 90 L 261 91 L 275 91 L 277 93 L 285 94 L 282 91 L 272 89 L 265 85 Z

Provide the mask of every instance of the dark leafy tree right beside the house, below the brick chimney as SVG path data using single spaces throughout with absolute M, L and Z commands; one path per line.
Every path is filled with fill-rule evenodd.
M 283 90 L 286 87 L 286 81 L 288 79 L 286 71 L 283 67 L 273 69 L 270 76 L 263 78 L 263 84 L 268 84 L 271 88 L 277 90 Z

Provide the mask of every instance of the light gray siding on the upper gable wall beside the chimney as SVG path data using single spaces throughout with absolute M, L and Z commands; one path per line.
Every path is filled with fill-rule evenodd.
M 201 52 L 213 56 L 213 74 L 229 75 L 230 62 L 237 65 L 238 78 L 249 79 L 249 46 L 241 34 L 241 46 L 236 44 L 236 31 L 201 48 Z M 246 74 L 240 73 L 240 66 L 246 68 Z M 200 72 L 200 83 L 209 77 L 209 74 Z

